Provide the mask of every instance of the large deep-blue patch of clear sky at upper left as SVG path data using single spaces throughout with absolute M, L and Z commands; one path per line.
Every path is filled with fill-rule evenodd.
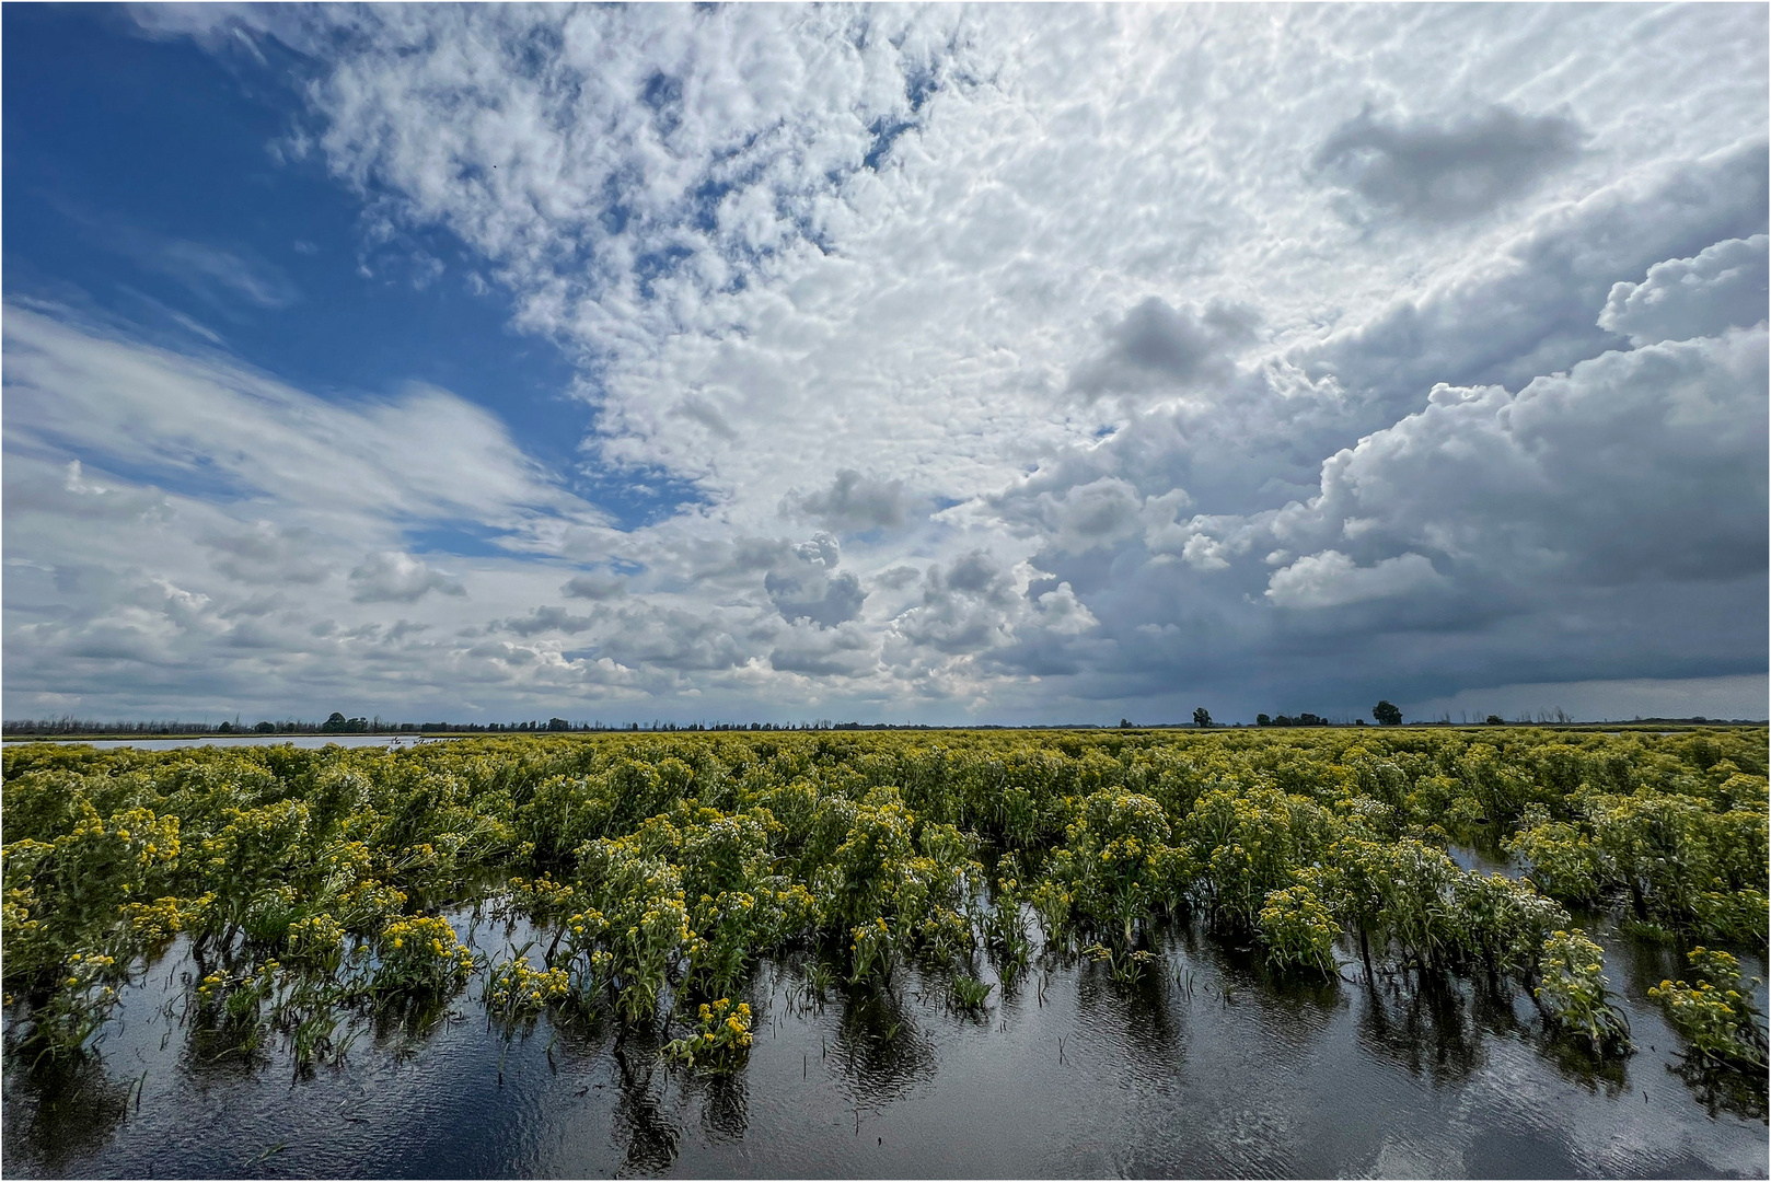
M 441 386 L 498 415 L 570 484 L 595 408 L 568 395 L 576 374 L 551 342 L 507 328 L 510 299 L 475 284 L 469 252 L 441 230 L 367 246 L 361 200 L 319 159 L 271 151 L 301 121 L 275 74 L 188 41 L 143 41 L 126 23 L 103 7 L 0 11 L 5 292 L 83 305 L 191 349 L 218 347 L 213 333 L 244 363 L 345 406 Z M 269 39 L 262 48 L 273 71 L 299 66 L 275 60 Z M 255 301 L 237 285 L 218 307 L 213 273 L 181 273 L 193 253 L 237 259 L 289 296 Z M 152 473 L 163 487 L 181 480 Z

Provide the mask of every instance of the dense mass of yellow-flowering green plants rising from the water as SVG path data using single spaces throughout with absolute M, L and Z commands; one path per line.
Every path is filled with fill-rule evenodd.
M 97 1049 L 177 941 L 205 1046 L 344 1053 L 352 1014 L 476 987 L 507 1021 L 662 1024 L 728 1070 L 763 955 L 820 980 L 946 969 L 956 1005 L 1036 957 L 1151 971 L 1162 923 L 1275 973 L 1523 991 L 1599 1060 L 1629 1031 L 1573 913 L 1613 909 L 1690 969 L 1654 998 L 1690 1061 L 1764 1090 L 1727 948 L 1767 937 L 1764 728 L 1633 732 L 724 732 L 462 739 L 409 751 L 4 751 L 9 1056 Z M 1454 845 L 1523 877 L 1465 870 Z M 448 911 L 538 939 L 476 959 Z M 1032 939 L 1034 927 L 1043 936 Z M 983 992 L 979 992 L 983 991 Z M 193 1033 L 197 1037 L 197 1033 Z M 1757 1083 L 1753 1083 L 1757 1081 Z

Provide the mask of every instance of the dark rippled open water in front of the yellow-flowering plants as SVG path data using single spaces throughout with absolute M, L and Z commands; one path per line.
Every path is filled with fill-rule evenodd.
M 528 932 L 457 913 L 482 952 Z M 338 1067 L 214 1060 L 181 1024 L 177 950 L 131 987 L 103 1063 L 41 1090 L 5 1070 L 9 1177 L 1766 1177 L 1764 1092 L 1681 1076 L 1647 989 L 1674 952 L 1596 929 L 1638 1051 L 1596 1065 L 1528 999 L 1380 976 L 1275 982 L 1174 930 L 1144 982 L 1093 962 L 995 982 L 808 994 L 765 960 L 749 1061 L 703 1076 L 613 1024 L 492 1028 L 478 982 Z M 1743 962 L 1766 976 L 1764 960 Z M 1764 989 L 1759 996 L 1764 1007 Z M 680 1031 L 678 1031 L 680 1033 Z

